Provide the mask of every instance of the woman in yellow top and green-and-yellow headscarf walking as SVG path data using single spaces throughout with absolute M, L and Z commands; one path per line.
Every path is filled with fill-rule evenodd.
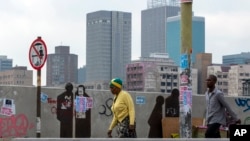
M 113 119 L 108 129 L 108 137 L 112 137 L 112 130 L 117 126 L 119 138 L 136 138 L 135 107 L 131 95 L 122 90 L 120 78 L 111 80 L 110 91 L 114 95 L 114 100 L 111 107 Z

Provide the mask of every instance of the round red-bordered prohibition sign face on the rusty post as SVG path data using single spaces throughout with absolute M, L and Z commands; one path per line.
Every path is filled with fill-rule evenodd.
M 41 37 L 32 42 L 29 50 L 29 61 L 31 66 L 40 70 L 47 60 L 47 47 Z

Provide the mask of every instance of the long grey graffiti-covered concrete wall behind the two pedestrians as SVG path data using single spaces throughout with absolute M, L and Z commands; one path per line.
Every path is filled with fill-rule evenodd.
M 56 119 L 56 97 L 64 89 L 61 88 L 41 88 L 41 92 L 48 95 L 50 99 L 47 102 L 41 102 L 41 137 L 58 138 L 59 121 Z M 74 89 L 75 92 L 75 89 Z M 87 90 L 87 94 L 93 97 L 93 108 L 91 109 L 91 138 L 106 138 L 107 129 L 112 116 L 109 116 L 113 95 L 109 91 Z M 17 87 L 0 86 L 0 105 L 2 107 L 4 98 L 13 99 L 15 104 L 15 115 L 0 115 L 0 134 L 2 137 L 36 137 L 36 95 L 37 87 Z M 169 95 L 162 93 L 142 93 L 131 92 L 136 106 L 136 130 L 138 138 L 147 138 L 150 130 L 148 124 L 149 117 L 156 106 L 156 98 Z M 145 98 L 144 104 L 136 102 L 137 96 Z M 242 120 L 244 124 L 250 124 L 250 97 L 226 97 L 232 109 Z M 107 102 L 107 103 L 106 103 Z M 106 115 L 100 114 L 105 111 Z M 162 106 L 163 111 L 164 106 Z M 193 95 L 193 117 L 204 117 L 205 97 Z M 163 112 L 162 115 L 165 115 Z M 171 125 L 169 125 L 171 128 Z M 84 132 L 84 130 L 83 130 Z M 116 131 L 113 130 L 115 137 Z

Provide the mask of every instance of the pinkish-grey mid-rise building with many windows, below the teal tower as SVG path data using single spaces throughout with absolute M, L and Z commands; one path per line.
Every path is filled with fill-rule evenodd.
M 180 68 L 166 53 L 153 53 L 141 57 L 127 65 L 127 85 L 129 91 L 161 92 L 170 94 L 179 89 Z M 197 69 L 192 69 L 192 88 L 197 93 Z

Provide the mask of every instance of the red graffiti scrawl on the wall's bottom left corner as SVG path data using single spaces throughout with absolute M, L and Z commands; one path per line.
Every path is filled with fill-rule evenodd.
M 0 118 L 0 137 L 25 137 L 28 130 L 35 127 L 24 114 Z

